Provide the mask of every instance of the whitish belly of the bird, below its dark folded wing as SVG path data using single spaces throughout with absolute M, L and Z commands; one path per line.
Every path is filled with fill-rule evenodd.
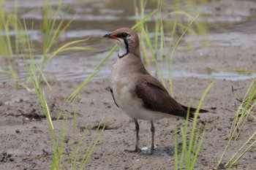
M 129 117 L 140 120 L 158 120 L 163 117 L 170 117 L 169 114 L 163 112 L 154 112 L 143 107 L 143 101 L 135 96 L 133 87 L 114 83 L 113 96 L 118 104 L 118 107 L 129 115 Z

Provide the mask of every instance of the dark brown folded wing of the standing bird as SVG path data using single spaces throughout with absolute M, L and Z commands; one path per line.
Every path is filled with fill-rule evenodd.
M 156 112 L 165 112 L 178 117 L 187 117 L 187 109 L 175 101 L 165 87 L 154 77 L 148 74 L 135 88 L 135 96 L 143 100 L 143 107 Z M 189 117 L 194 117 L 189 113 Z

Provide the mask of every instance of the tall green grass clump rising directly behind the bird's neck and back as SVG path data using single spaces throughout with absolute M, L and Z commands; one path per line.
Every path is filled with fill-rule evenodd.
M 148 1 L 137 1 L 135 4 L 136 18 L 143 18 L 145 15 L 145 7 Z M 162 72 L 159 70 L 159 61 L 162 64 L 167 64 L 168 77 L 170 82 L 170 93 L 173 95 L 172 87 L 172 60 L 178 44 L 185 34 L 199 34 L 206 35 L 207 27 L 196 20 L 199 14 L 193 17 L 189 15 L 186 8 L 181 9 L 180 1 L 172 1 L 170 4 L 164 1 L 157 1 L 157 12 L 154 15 L 154 28 L 150 30 L 154 32 L 154 39 L 151 40 L 148 31 L 148 25 L 145 23 L 140 27 L 140 47 L 143 50 L 143 57 L 146 64 L 151 64 L 151 59 L 154 61 L 154 66 L 157 69 L 157 74 L 162 84 L 165 85 L 165 80 Z M 167 12 L 164 11 L 173 11 Z M 170 20 L 171 18 L 171 20 Z M 183 20 L 180 21 L 180 18 Z M 184 22 L 186 18 L 186 22 Z M 170 37 L 170 41 L 166 41 L 165 37 Z M 149 51 L 149 53 L 148 53 Z M 166 85 L 165 85 L 166 87 Z

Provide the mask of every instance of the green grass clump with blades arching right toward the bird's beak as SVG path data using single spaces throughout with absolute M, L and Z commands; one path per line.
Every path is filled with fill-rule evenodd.
M 57 47 L 53 50 L 53 46 L 59 42 L 59 38 L 64 31 L 67 30 L 72 20 L 66 22 L 65 18 L 60 15 L 60 10 L 63 4 L 63 0 L 59 2 L 59 6 L 54 11 L 53 7 L 50 6 L 49 0 L 45 0 L 42 6 L 42 22 L 41 31 L 45 34 L 42 40 L 42 63 L 41 69 L 45 68 L 46 63 L 53 59 L 58 53 L 68 50 L 91 50 L 91 47 L 74 46 L 81 42 L 86 42 L 87 39 L 79 39 L 72 42 L 68 42 L 61 47 Z M 59 18 L 61 18 L 59 20 Z

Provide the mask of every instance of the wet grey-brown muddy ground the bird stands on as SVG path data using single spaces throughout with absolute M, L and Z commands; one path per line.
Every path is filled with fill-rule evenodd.
M 256 31 L 246 34 L 248 45 L 211 46 L 204 50 L 192 49 L 186 53 L 177 53 L 173 58 L 173 69 L 182 68 L 187 72 L 200 73 L 206 73 L 209 66 L 256 69 L 255 36 Z M 209 112 L 201 114 L 197 123 L 197 128 L 200 129 L 207 122 L 207 129 L 195 169 L 216 167 L 225 150 L 230 127 L 240 104 L 239 100 L 244 98 L 252 80 L 214 79 L 210 74 L 207 79 L 181 77 L 173 80 L 176 100 L 193 107 L 197 106 L 203 90 L 214 80 L 216 82 L 203 102 L 203 108 L 208 109 Z M 53 123 L 56 123 L 67 96 L 80 84 L 81 82 L 74 81 L 51 81 L 52 90 L 42 85 Z M 10 82 L 1 83 L 0 86 L 0 169 L 49 169 L 52 158 L 49 127 L 36 93 L 34 90 L 17 89 Z M 67 117 L 65 137 L 67 146 L 64 148 L 64 161 L 69 158 L 74 143 L 72 127 L 76 109 L 78 119 L 75 124 L 75 142 L 78 142 L 86 129 L 88 130 L 83 142 L 85 146 L 80 148 L 80 152 L 85 152 L 100 120 L 104 118 L 108 121 L 99 143 L 86 164 L 86 169 L 173 169 L 174 133 L 176 128 L 184 126 L 184 120 L 163 119 L 155 123 L 157 148 L 154 154 L 124 152 L 135 147 L 135 124 L 114 104 L 108 79 L 92 80 L 82 90 L 79 98 L 80 100 L 64 107 L 61 118 L 55 126 L 58 132 L 64 124 L 64 117 Z M 255 114 L 256 111 L 252 112 Z M 151 144 L 150 123 L 148 121 L 139 123 L 140 148 L 148 147 Z M 227 150 L 223 163 L 246 142 L 255 129 L 256 121 L 249 117 L 244 128 L 239 129 L 241 136 Z M 181 133 L 178 134 L 178 142 L 182 143 Z M 256 169 L 255 162 L 254 146 L 233 169 Z

